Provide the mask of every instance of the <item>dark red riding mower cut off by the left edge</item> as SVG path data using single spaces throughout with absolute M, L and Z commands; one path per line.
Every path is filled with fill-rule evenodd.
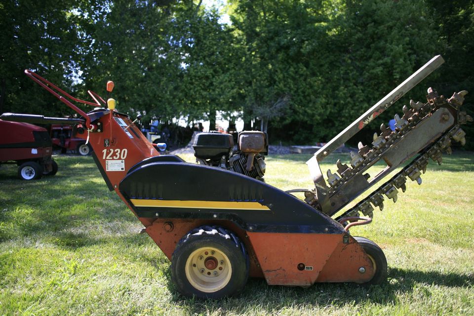
M 51 138 L 45 128 L 0 119 L 0 134 L 0 164 L 16 163 L 21 179 L 56 174 L 58 165 L 51 158 Z

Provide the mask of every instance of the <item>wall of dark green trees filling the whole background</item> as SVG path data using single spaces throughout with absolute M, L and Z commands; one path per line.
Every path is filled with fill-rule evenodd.
M 71 114 L 31 68 L 83 98 L 115 80 L 118 109 L 145 121 L 212 126 L 216 110 L 237 112 L 271 141 L 303 144 L 332 138 L 436 54 L 446 64 L 380 120 L 429 86 L 473 90 L 473 0 L 19 0 L 0 4 L 0 26 L 0 112 Z

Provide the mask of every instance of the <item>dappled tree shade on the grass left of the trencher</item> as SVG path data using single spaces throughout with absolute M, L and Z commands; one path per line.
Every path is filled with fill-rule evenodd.
M 58 234 L 82 226 L 137 223 L 105 182 L 97 183 L 94 179 L 94 174 L 99 173 L 97 168 L 80 160 L 85 159 L 71 158 L 62 174 L 37 181 L 4 179 L 5 174 L 0 177 L 0 241 L 45 234 L 73 246 L 87 241 L 74 234 L 64 238 Z

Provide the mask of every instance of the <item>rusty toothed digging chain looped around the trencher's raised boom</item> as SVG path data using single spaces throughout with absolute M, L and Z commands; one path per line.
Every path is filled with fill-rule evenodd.
M 334 193 L 342 184 L 360 172 L 363 172 L 365 166 L 374 162 L 374 160 L 385 152 L 386 149 L 392 146 L 400 137 L 410 129 L 414 128 L 424 118 L 431 116 L 437 109 L 444 107 L 456 110 L 456 124 L 448 132 L 441 136 L 432 145 L 427 147 L 421 155 L 395 174 L 395 176 L 393 176 L 389 181 L 381 185 L 368 197 L 358 202 L 356 206 L 337 217 L 336 220 L 344 217 L 359 216 L 359 213 L 372 217 L 374 207 L 378 206 L 380 210 L 383 210 L 385 197 L 396 202 L 398 189 L 405 192 L 407 178 L 416 181 L 419 185 L 422 183 L 421 174 L 426 172 L 426 167 L 430 158 L 438 164 L 441 164 L 442 153 L 446 152 L 447 154 L 451 154 L 450 146 L 453 140 L 464 145 L 466 143 L 466 133 L 461 129 L 460 124 L 465 124 L 467 121 L 473 121 L 473 118 L 466 115 L 465 112 L 458 111 L 466 94 L 467 91 L 454 93 L 451 98 L 446 100 L 444 96 L 438 96 L 437 92 L 433 91 L 432 88 L 428 89 L 427 103 L 415 103 L 411 100 L 410 109 L 408 109 L 407 106 L 403 106 L 403 116 L 401 118 L 398 115 L 395 115 L 395 131 L 392 131 L 390 128 L 387 128 L 385 124 L 382 124 L 381 134 L 374 134 L 372 148 L 369 148 L 369 146 L 363 146 L 359 143 L 358 153 L 351 153 L 351 166 L 342 164 L 338 160 L 336 164 L 338 167 L 337 173 L 339 173 L 339 175 L 337 173 L 331 173 L 330 170 L 327 171 L 328 183 L 330 185 L 328 190 L 329 194 Z

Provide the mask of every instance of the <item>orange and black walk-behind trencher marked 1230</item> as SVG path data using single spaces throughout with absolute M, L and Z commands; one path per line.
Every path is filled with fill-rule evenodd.
M 459 110 L 467 91 L 446 99 L 430 88 L 426 103 L 404 106 L 403 115 L 395 115 L 395 131 L 382 124 L 380 135 L 375 134 L 370 145 L 360 143 L 349 164 L 337 161 L 337 171 L 327 170 L 324 177 L 319 162 L 443 62 L 441 56 L 433 58 L 316 152 L 307 161 L 314 189 L 281 191 L 263 181 L 266 133 L 240 132 L 237 150 L 230 134 L 200 133 L 193 146 L 199 163 L 187 163 L 174 155 L 159 155 L 132 120 L 115 110 L 114 99 L 108 99 L 107 109 L 85 113 L 68 99 L 87 101 L 74 99 L 31 71 L 26 71 L 31 79 L 82 118 L 1 117 L 75 125 L 79 137 L 94 148 L 109 190 L 171 260 L 172 279 L 185 296 L 235 295 L 248 276 L 264 277 L 271 285 L 377 284 L 387 278 L 382 249 L 349 229 L 369 224 L 374 207 L 382 209 L 385 198 L 395 202 L 408 178 L 421 184 L 429 158 L 441 163 L 452 141 L 465 143 L 460 125 L 473 119 Z M 378 161 L 387 166 L 370 179 L 367 171 Z M 389 181 L 341 214 L 343 207 L 402 164 L 405 167 Z M 297 192 L 305 198 L 295 197 Z

